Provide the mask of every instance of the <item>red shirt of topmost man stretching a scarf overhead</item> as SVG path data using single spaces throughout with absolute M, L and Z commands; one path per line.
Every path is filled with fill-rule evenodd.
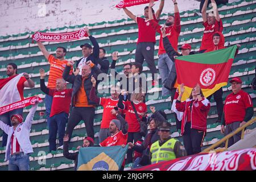
M 154 20 L 158 22 L 154 15 Z M 154 42 L 155 43 L 155 30 L 150 26 L 149 20 L 145 20 L 144 18 L 137 17 L 136 22 L 138 24 L 138 43 L 141 42 Z

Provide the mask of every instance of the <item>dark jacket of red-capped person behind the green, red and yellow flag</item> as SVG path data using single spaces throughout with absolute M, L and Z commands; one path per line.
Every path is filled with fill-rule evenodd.
M 171 60 L 174 61 L 175 64 L 175 56 L 182 56 L 181 54 L 177 53 L 174 48 L 172 47 L 169 39 L 167 38 L 167 36 L 165 38 L 163 38 L 163 45 L 164 45 L 164 49 L 166 49 L 166 53 L 167 55 L 170 57 Z M 202 50 L 200 52 L 195 52 L 195 51 L 191 51 L 189 53 L 189 55 L 194 55 L 196 53 L 203 53 L 205 50 Z M 176 68 L 175 65 L 172 66 L 171 72 L 168 75 L 167 81 L 166 83 L 169 83 L 170 86 L 168 86 L 169 89 L 174 88 L 174 84 L 176 81 L 177 75 L 176 75 Z M 167 85 L 166 85 L 167 86 Z

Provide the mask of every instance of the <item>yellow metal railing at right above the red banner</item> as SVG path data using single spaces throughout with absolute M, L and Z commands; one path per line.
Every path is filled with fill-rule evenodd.
M 237 130 L 233 131 L 232 133 L 226 135 L 224 138 L 222 138 L 221 140 L 218 140 L 218 142 L 212 144 L 210 147 L 208 148 L 205 148 L 205 150 L 203 150 L 201 153 L 203 152 L 209 152 L 209 151 L 212 151 L 214 150 L 214 148 L 220 146 L 220 144 L 224 143 L 225 142 L 225 148 L 218 148 L 214 151 L 216 152 L 223 152 L 223 151 L 226 151 L 228 149 L 228 142 L 229 142 L 229 139 L 231 137 L 233 137 L 234 135 L 236 135 L 237 133 L 240 133 L 242 131 L 242 134 L 241 134 L 241 139 L 243 139 L 243 137 L 245 136 L 245 128 L 251 124 L 253 124 L 254 122 L 256 121 L 256 117 L 251 119 L 250 121 L 246 122 L 245 125 L 241 126 L 241 127 L 238 127 Z

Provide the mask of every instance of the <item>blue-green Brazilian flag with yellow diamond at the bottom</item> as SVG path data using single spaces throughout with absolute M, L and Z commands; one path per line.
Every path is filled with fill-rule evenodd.
M 127 145 L 80 148 L 77 171 L 118 171 L 127 149 Z

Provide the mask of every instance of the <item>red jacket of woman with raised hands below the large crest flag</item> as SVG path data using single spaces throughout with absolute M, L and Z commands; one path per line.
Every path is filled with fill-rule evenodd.
M 176 101 L 177 111 L 184 112 L 181 121 L 181 135 L 184 134 L 185 124 L 187 122 L 188 107 L 191 102 L 193 102 L 191 109 L 191 129 L 197 129 L 205 132 L 207 131 L 207 115 L 210 110 L 210 102 L 204 97 L 201 101 L 198 101 L 197 99 L 195 101 L 192 99 L 187 99 L 184 102 Z

